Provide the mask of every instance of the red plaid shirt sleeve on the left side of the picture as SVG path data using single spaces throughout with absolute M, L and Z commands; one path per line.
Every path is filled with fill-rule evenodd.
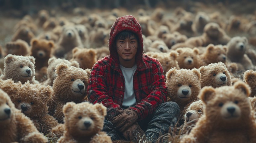
M 87 87 L 87 96 L 89 102 L 102 103 L 105 107 L 107 107 L 107 118 L 112 120 L 113 117 L 120 114 L 120 105 L 114 103 L 113 99 L 108 95 L 106 91 L 105 84 L 105 73 L 104 67 L 100 66 L 98 63 L 92 68 L 91 75 L 89 78 L 89 85 Z

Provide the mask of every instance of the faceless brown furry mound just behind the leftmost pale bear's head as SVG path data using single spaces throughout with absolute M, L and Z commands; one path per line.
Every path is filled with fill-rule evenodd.
M 18 56 L 30 56 L 31 49 L 26 41 L 18 39 L 14 42 L 5 44 L 5 49 L 8 54 Z

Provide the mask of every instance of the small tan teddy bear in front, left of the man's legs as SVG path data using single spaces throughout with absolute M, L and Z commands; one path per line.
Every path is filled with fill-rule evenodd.
M 102 132 L 107 108 L 102 104 L 89 102 L 67 102 L 63 106 L 64 135 L 58 143 L 112 143 L 110 136 Z

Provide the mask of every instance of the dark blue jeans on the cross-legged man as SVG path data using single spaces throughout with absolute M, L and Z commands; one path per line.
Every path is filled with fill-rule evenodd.
M 170 126 L 175 126 L 180 114 L 180 107 L 175 102 L 165 102 L 145 119 L 139 121 L 139 126 L 146 137 L 158 138 L 159 135 L 168 133 Z M 104 120 L 103 130 L 111 137 L 112 141 L 123 139 L 121 132 L 117 131 L 109 120 Z

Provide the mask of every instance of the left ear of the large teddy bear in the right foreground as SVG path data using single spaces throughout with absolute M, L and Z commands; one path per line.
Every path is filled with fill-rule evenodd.
M 213 99 L 215 96 L 215 90 L 213 87 L 208 86 L 208 87 L 203 87 L 198 94 L 198 98 L 200 98 L 205 104 Z

